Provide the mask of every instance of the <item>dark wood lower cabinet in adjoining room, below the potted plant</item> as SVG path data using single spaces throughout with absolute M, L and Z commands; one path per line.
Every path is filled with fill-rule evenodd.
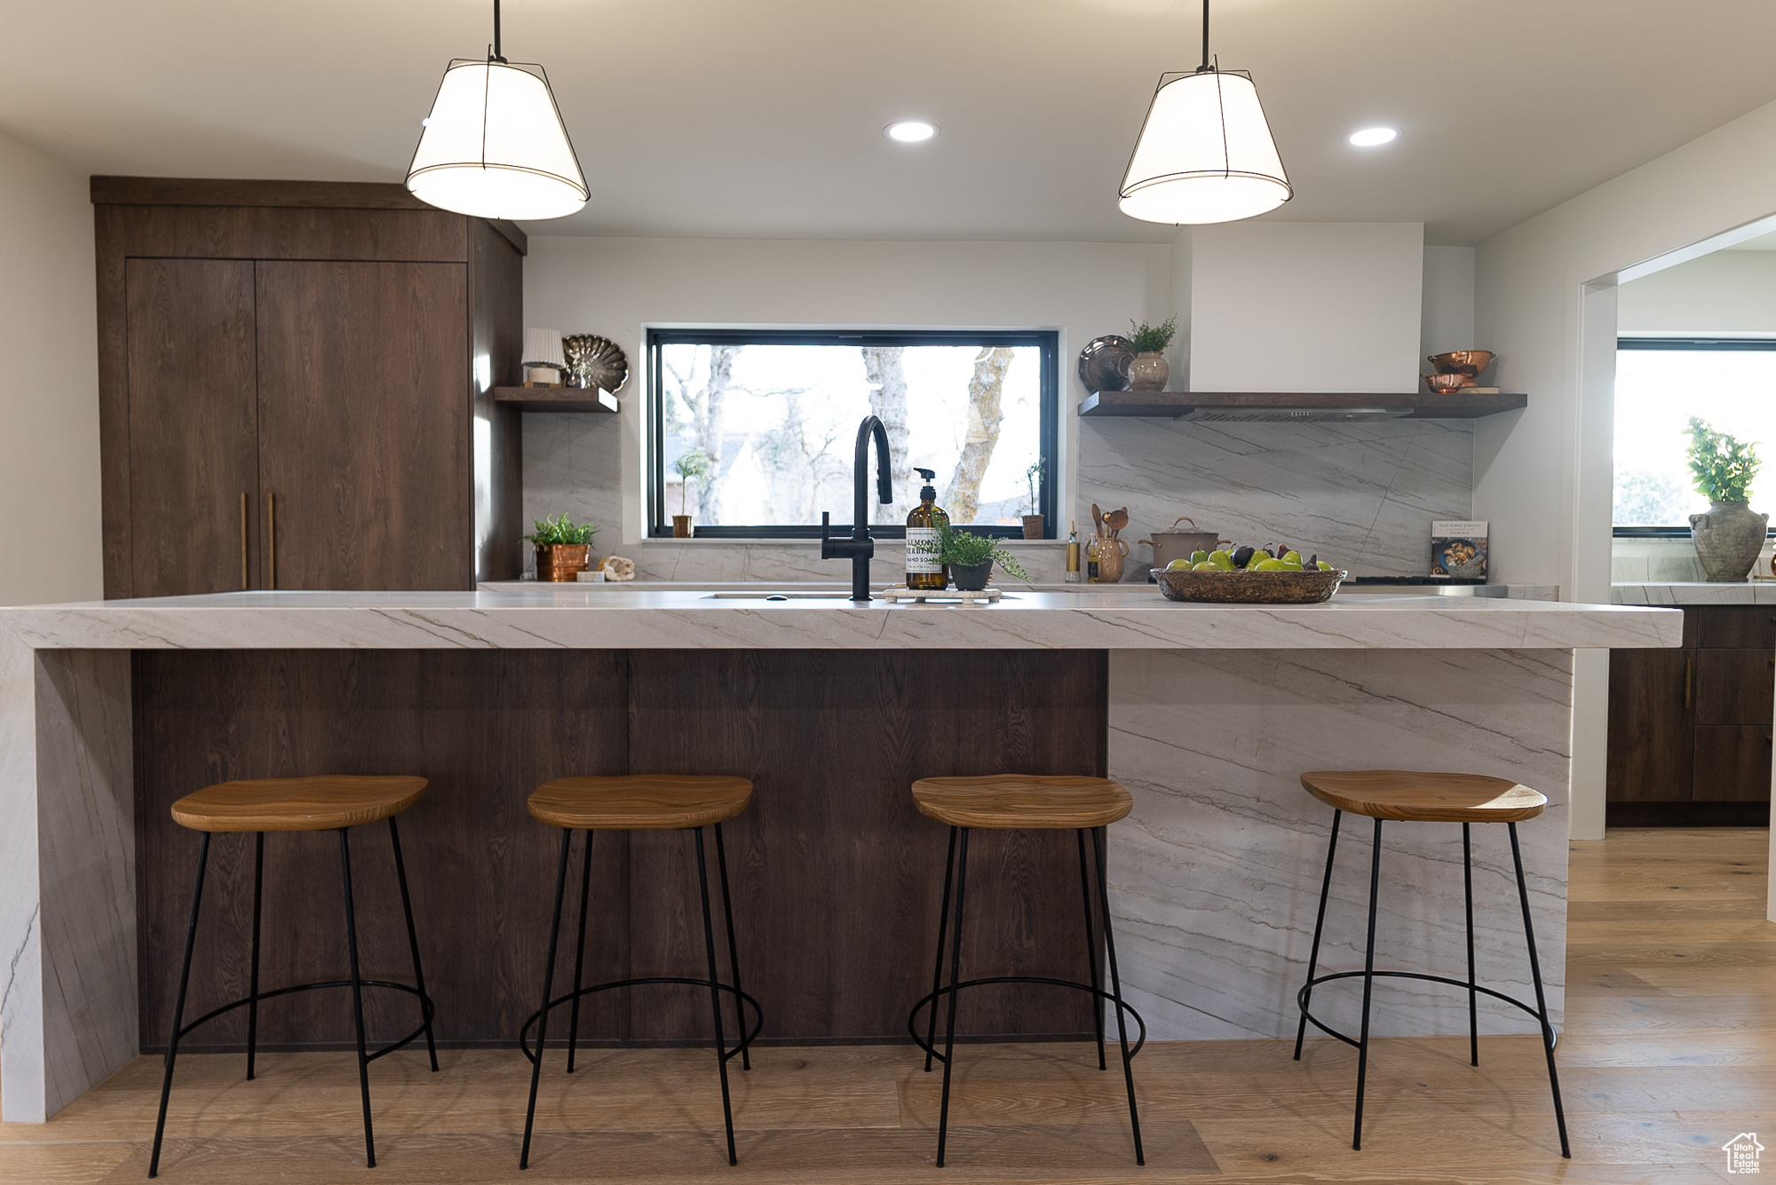
M 1609 655 L 1613 825 L 1769 821 L 1776 612 L 1684 610 L 1682 649 Z

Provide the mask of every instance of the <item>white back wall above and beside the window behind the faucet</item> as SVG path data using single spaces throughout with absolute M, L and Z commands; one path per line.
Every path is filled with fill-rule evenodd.
M 1172 314 L 1165 243 L 904 243 L 785 239 L 531 238 L 524 321 L 616 341 L 630 362 L 620 424 L 579 461 L 583 502 L 622 541 L 643 532 L 643 325 L 870 325 L 1057 328 L 1062 358 L 1062 488 L 1071 488 L 1085 390 L 1074 355 L 1099 334 Z M 586 417 L 588 420 L 593 417 Z M 611 429 L 618 429 L 613 433 Z M 620 433 L 620 435 L 618 435 Z M 526 488 L 533 456 L 526 428 Z M 536 458 L 547 463 L 545 458 Z M 607 472 L 618 468 L 620 472 Z M 606 470 L 606 472 L 593 472 Z M 1064 509 L 1076 516 L 1076 509 Z M 600 536 L 600 546 L 616 543 Z

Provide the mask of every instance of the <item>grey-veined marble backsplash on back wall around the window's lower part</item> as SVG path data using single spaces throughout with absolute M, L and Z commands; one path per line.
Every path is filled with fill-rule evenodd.
M 1138 539 L 1179 514 L 1241 543 L 1272 539 L 1352 575 L 1421 575 L 1433 518 L 1469 518 L 1472 428 L 1460 420 L 1366 424 L 1199 424 L 1074 420 L 1078 467 L 1071 518 L 1090 530 L 1090 506 L 1128 506 L 1126 580 L 1144 578 Z M 604 525 L 599 553 L 636 561 L 645 580 L 844 580 L 812 541 L 622 545 L 623 426 L 607 415 L 524 415 L 524 516 L 572 514 Z M 1066 523 L 1062 523 L 1066 529 Z M 1014 550 L 1035 580 L 1060 580 L 1062 548 Z M 526 568 L 533 566 L 526 555 Z M 900 545 L 877 545 L 874 578 L 900 573 Z M 1504 573 L 1494 573 L 1499 578 Z

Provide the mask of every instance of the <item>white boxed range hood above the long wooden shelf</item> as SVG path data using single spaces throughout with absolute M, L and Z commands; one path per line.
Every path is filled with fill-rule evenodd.
M 1417 390 L 1424 224 L 1197 227 L 1190 390 Z

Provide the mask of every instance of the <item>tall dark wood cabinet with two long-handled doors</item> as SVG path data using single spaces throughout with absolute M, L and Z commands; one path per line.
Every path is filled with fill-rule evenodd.
M 108 598 L 519 575 L 517 227 L 385 184 L 92 200 Z

